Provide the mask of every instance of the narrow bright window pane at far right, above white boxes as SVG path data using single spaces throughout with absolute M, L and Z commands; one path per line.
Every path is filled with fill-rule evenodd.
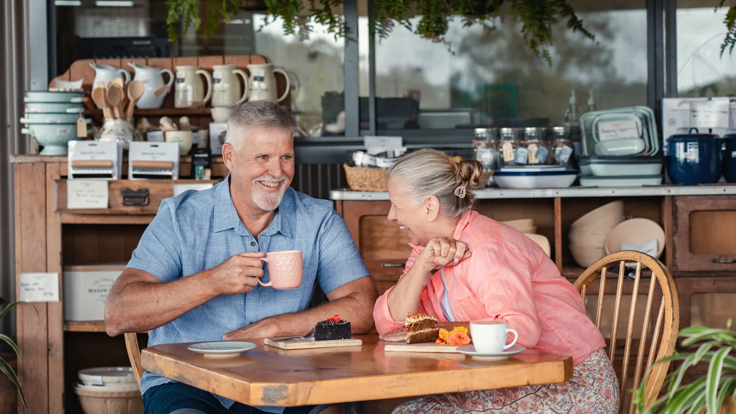
M 718 3 L 718 2 L 716 2 Z M 677 90 L 679 96 L 727 96 L 736 93 L 736 57 L 721 44 L 728 7 L 715 10 L 704 0 L 677 1 Z

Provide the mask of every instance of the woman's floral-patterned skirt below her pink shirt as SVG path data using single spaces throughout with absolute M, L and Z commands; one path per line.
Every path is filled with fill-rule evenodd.
M 559 384 L 422 396 L 393 414 L 613 414 L 618 413 L 618 379 L 604 349 L 590 354 Z

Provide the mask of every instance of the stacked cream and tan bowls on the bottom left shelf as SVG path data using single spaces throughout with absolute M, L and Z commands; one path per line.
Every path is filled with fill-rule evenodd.
M 79 371 L 74 393 L 85 414 L 143 414 L 143 397 L 130 367 Z

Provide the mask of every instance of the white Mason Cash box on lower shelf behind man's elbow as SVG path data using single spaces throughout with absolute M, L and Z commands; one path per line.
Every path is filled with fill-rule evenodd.
M 64 266 L 64 320 L 104 321 L 105 300 L 125 263 Z

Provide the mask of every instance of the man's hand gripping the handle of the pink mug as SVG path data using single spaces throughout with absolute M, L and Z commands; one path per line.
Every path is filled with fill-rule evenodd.
M 263 276 L 263 251 L 238 253 L 211 270 L 208 278 L 218 295 L 250 292 Z

